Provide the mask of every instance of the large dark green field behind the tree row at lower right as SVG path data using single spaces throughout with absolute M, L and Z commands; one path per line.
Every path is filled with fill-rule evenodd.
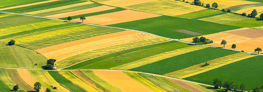
M 253 90 L 262 84 L 262 60 L 263 56 L 255 56 L 243 59 L 228 65 L 206 71 L 204 73 L 184 78 L 186 80 L 201 82 L 212 85 L 213 79 L 218 78 L 221 81 L 225 79 L 234 81 L 238 85 L 244 83 L 246 90 Z M 231 70 L 231 71 L 229 71 Z

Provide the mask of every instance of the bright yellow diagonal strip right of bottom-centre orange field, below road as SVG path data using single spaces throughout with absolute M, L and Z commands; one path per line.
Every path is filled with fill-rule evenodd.
M 142 77 L 138 73 L 127 72 L 127 71 L 124 71 L 124 73 L 126 75 L 130 76 L 131 78 L 133 78 L 134 80 L 136 80 L 137 82 L 140 82 L 144 86 L 153 90 L 154 92 L 166 92 L 165 90 L 161 89 L 159 86 L 157 86 L 157 85 L 153 84 L 152 82 L 150 82 L 149 80 L 145 79 L 144 77 Z

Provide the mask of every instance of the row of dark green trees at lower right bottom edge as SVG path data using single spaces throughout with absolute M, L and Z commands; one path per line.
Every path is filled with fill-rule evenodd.
M 238 89 L 238 84 L 236 84 L 234 81 L 225 80 L 224 83 L 222 83 L 221 80 L 218 78 L 213 80 L 213 85 L 214 85 L 214 89 L 219 89 L 223 87 L 225 89 L 225 92 L 227 92 L 228 90 L 234 91 Z M 240 89 L 244 91 L 245 84 L 241 84 Z

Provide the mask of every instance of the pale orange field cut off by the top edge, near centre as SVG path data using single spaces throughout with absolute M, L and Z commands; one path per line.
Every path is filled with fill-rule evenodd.
M 125 7 L 125 6 L 132 6 L 146 2 L 153 2 L 157 0 L 110 0 L 104 2 L 98 2 L 104 5 L 116 6 L 116 7 Z

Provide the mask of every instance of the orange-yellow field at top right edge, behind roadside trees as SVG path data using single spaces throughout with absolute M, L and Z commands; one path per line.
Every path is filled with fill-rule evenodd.
M 263 12 L 263 6 L 260 6 L 260 7 L 250 7 L 250 8 L 247 8 L 247 9 L 243 9 L 243 10 L 238 10 L 236 11 L 235 13 L 247 13 L 247 14 L 250 14 L 253 9 L 256 9 L 257 10 L 257 16 L 256 17 L 259 17 L 260 14 Z

